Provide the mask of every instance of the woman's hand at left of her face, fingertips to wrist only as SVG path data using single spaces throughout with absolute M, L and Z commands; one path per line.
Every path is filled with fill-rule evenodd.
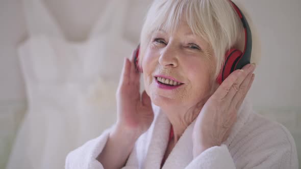
M 131 61 L 128 58 L 124 59 L 116 92 L 117 127 L 139 137 L 152 124 L 154 112 L 146 92 L 143 91 L 140 96 L 140 72 L 134 65 L 134 54 L 135 52 L 132 53 Z

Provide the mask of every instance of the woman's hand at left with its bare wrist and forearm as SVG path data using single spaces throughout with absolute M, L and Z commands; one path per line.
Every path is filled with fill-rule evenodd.
M 106 146 L 96 158 L 104 168 L 122 168 L 136 140 L 154 120 L 150 98 L 145 91 L 140 96 L 140 73 L 135 69 L 133 54 L 131 61 L 128 58 L 124 60 L 116 92 L 117 123 L 110 132 Z

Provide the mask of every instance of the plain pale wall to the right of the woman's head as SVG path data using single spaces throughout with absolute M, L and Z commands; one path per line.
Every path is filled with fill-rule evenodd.
M 255 106 L 300 107 L 301 1 L 245 1 L 262 37 L 250 96 Z

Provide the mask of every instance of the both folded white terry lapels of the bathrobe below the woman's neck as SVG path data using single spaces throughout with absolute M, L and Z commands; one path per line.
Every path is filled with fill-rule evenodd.
M 193 159 L 191 134 L 194 123 L 195 121 L 191 123 L 184 131 L 178 143 L 174 146 L 168 158 L 166 159 L 162 167 L 163 169 L 185 168 L 185 166 L 191 162 Z M 168 144 L 169 130 L 170 122 L 166 115 L 160 110 L 152 131 L 152 136 L 145 159 L 145 166 L 142 168 L 154 169 L 161 167 L 161 162 Z

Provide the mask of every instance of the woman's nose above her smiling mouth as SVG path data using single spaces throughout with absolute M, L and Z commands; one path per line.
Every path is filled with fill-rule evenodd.
M 166 46 L 160 54 L 159 64 L 162 67 L 177 67 L 178 63 L 178 54 L 177 50 Z

